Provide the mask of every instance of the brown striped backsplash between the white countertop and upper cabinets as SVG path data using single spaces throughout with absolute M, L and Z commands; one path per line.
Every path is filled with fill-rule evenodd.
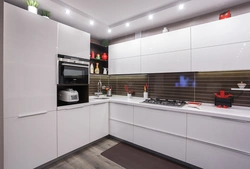
M 179 99 L 186 101 L 199 101 L 214 103 L 214 93 L 225 90 L 233 94 L 233 105 L 250 107 L 250 92 L 232 91 L 237 83 L 243 81 L 250 88 L 250 71 L 226 72 L 188 72 L 188 73 L 162 73 L 148 75 L 112 75 L 90 77 L 90 95 L 97 90 L 97 82 L 101 79 L 103 85 L 113 87 L 112 94 L 126 95 L 124 85 L 133 90 L 134 96 L 143 96 L 143 86 L 149 84 L 149 97 Z M 103 93 L 106 91 L 103 90 Z

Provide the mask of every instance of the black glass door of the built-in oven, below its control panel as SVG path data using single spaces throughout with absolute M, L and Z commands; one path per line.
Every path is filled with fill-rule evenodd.
M 77 65 L 73 63 L 60 63 L 60 84 L 88 84 L 88 65 Z

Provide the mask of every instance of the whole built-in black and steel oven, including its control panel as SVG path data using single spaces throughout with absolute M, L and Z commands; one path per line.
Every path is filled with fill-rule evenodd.
M 58 55 L 58 84 L 88 84 L 89 60 Z

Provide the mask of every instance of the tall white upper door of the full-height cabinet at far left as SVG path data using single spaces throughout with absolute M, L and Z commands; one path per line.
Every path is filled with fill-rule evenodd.
M 57 23 L 4 3 L 4 117 L 56 110 Z

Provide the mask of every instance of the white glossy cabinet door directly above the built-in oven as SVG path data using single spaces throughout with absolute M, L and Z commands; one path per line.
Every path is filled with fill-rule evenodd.
M 58 54 L 90 58 L 90 34 L 58 23 Z

